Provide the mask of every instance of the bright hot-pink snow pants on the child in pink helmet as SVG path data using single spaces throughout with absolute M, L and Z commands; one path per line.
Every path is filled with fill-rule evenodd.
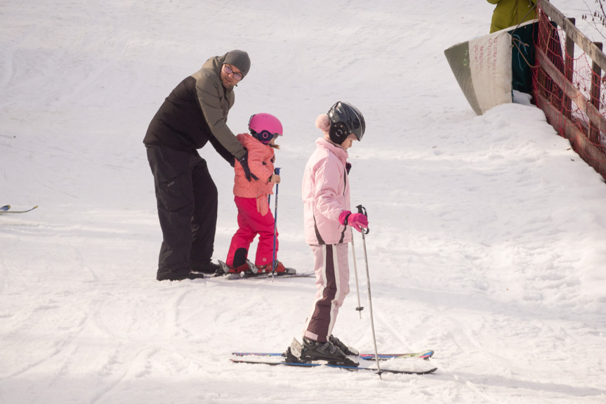
M 261 216 L 257 211 L 255 198 L 234 197 L 238 208 L 238 230 L 232 237 L 228 259 L 229 266 L 233 265 L 234 254 L 237 249 L 244 248 L 248 252 L 251 242 L 259 235 L 255 265 L 268 265 L 272 263 L 274 254 L 274 216 L 271 209 L 268 214 Z M 278 252 L 278 233 L 276 229 L 276 259 Z

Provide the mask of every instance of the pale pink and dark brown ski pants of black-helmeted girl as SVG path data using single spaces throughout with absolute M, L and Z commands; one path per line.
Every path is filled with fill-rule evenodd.
M 349 293 L 348 244 L 312 245 L 317 292 L 303 337 L 326 342 Z

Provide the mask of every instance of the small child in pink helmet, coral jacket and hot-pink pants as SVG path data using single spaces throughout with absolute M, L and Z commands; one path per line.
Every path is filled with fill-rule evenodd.
M 234 200 L 238 209 L 238 230 L 232 237 L 224 272 L 240 273 L 249 270 L 246 259 L 249 247 L 258 235 L 255 266 L 259 273 L 272 271 L 275 253 L 277 257 L 278 240 L 275 220 L 269 207 L 268 195 L 273 186 L 280 182 L 280 176 L 274 174 L 275 149 L 279 149 L 275 139 L 282 136 L 282 123 L 270 114 L 256 114 L 249 120 L 249 133 L 240 133 L 238 141 L 249 153 L 251 176 L 246 178 L 239 162 L 235 163 Z M 277 259 L 277 258 L 276 258 Z M 225 271 L 227 269 L 227 271 Z M 277 261 L 275 272 L 284 273 L 286 268 Z

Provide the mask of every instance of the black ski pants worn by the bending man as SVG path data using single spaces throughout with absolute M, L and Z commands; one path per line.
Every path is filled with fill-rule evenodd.
M 208 266 L 213 255 L 218 194 L 206 160 L 196 154 L 147 145 L 154 174 L 162 247 L 157 280 L 183 279 Z

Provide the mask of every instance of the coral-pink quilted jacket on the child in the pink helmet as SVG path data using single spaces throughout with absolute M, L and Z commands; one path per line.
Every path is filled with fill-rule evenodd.
M 242 146 L 249 152 L 249 169 L 258 179 L 246 180 L 242 165 L 235 163 L 234 195 L 237 197 L 255 198 L 257 211 L 265 216 L 269 210 L 268 195 L 273 193 L 273 183 L 269 182 L 274 174 L 274 149 L 253 138 L 248 133 L 236 136 Z

